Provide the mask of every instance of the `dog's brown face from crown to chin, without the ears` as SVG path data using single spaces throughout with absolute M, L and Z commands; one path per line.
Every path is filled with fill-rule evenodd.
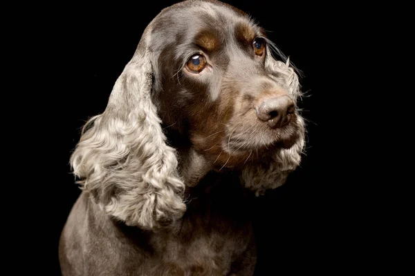
M 266 33 L 230 6 L 188 5 L 151 23 L 152 99 L 166 128 L 189 137 L 215 165 L 239 166 L 299 139 L 295 98 L 279 76 Z

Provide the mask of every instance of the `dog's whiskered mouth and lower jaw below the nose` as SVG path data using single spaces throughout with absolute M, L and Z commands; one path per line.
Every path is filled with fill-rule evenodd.
M 241 118 L 230 120 L 225 129 L 208 136 L 195 133 L 192 143 L 217 169 L 223 169 L 263 160 L 276 150 L 291 148 L 304 136 L 304 123 L 298 115 L 282 128 L 261 123 L 264 124 Z

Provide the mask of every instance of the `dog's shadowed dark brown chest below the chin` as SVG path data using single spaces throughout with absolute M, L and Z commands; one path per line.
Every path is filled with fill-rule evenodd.
M 230 273 L 232 263 L 253 246 L 253 230 L 246 206 L 225 208 L 220 202 L 194 199 L 174 234 L 150 238 L 154 275 Z

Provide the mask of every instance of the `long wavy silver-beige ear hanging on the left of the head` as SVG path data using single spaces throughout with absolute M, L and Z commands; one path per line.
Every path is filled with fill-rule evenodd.
M 107 108 L 85 125 L 71 166 L 82 188 L 109 215 L 129 226 L 154 229 L 182 217 L 186 206 L 176 152 L 167 146 L 151 103 L 148 39 L 146 31 Z

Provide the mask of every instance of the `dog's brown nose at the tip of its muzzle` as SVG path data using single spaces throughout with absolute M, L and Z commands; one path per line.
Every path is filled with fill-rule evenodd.
M 295 106 L 287 95 L 266 99 L 256 108 L 257 116 L 261 121 L 268 121 L 270 128 L 282 128 L 293 117 Z

